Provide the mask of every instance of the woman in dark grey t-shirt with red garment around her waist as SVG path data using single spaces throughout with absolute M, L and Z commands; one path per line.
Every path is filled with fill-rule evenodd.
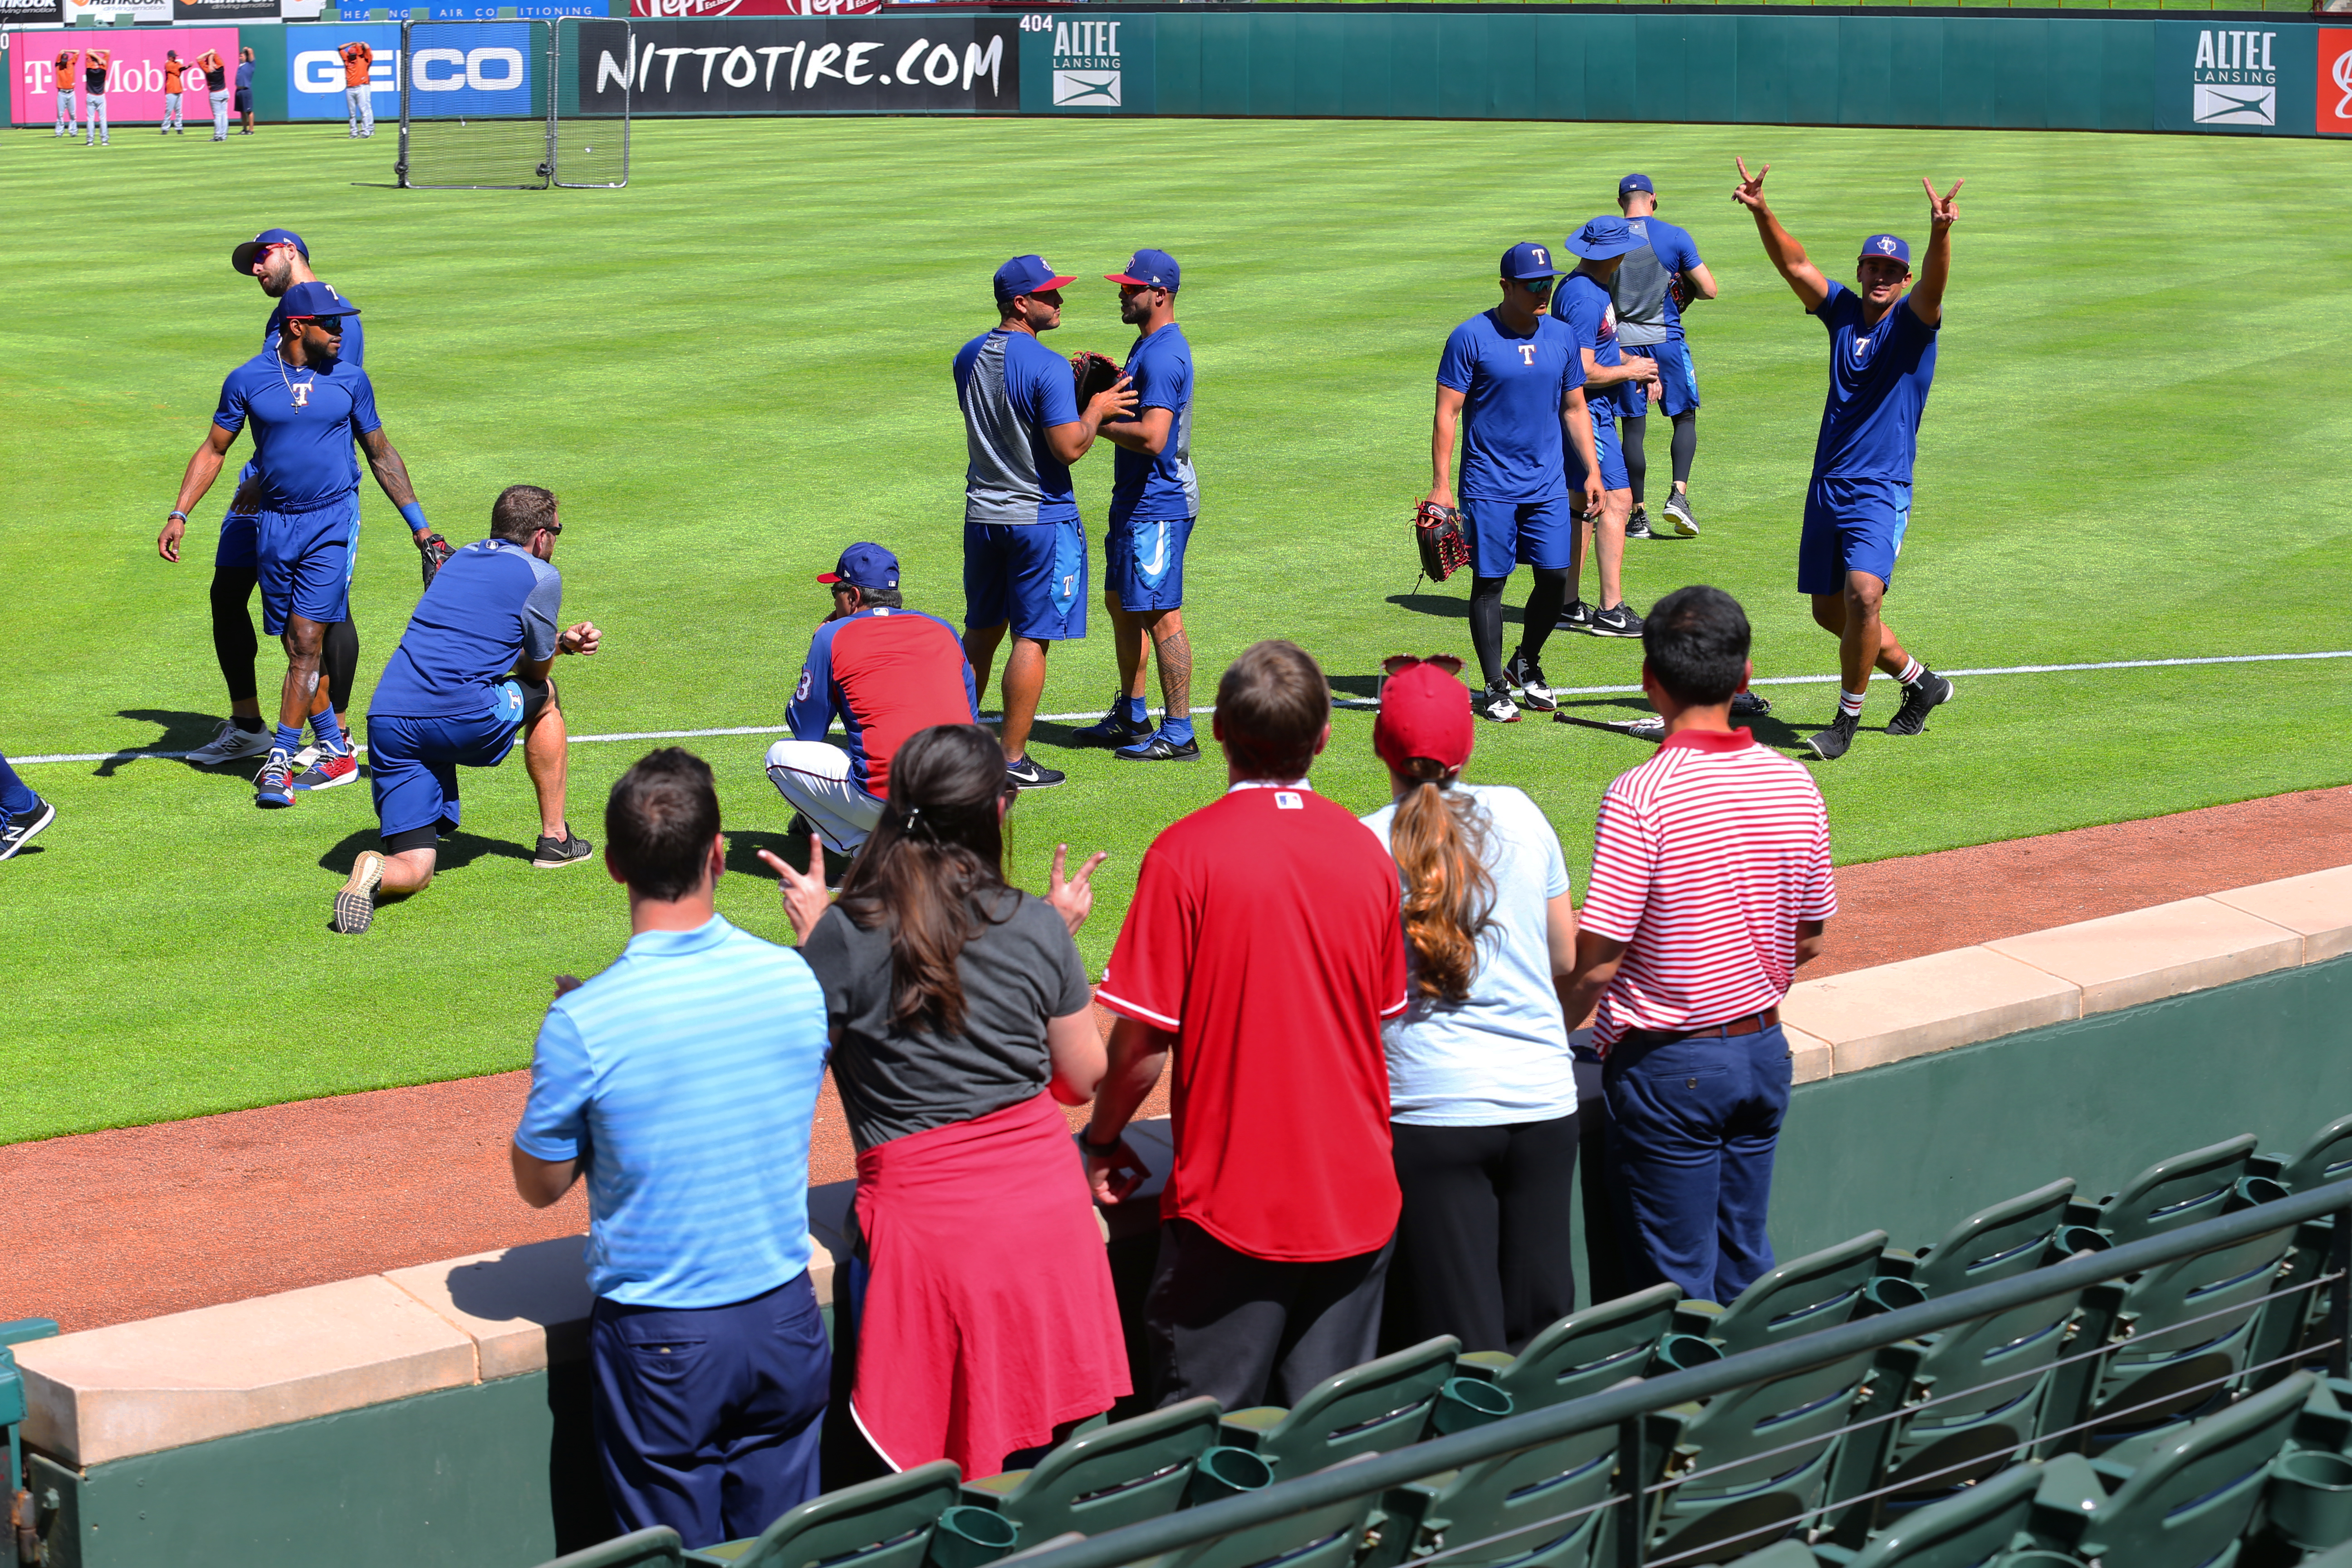
M 1061 1105 L 1103 1077 L 1073 931 L 1089 860 L 1054 903 L 1002 875 L 1004 752 L 976 724 L 917 731 L 828 910 L 786 877 L 826 990 L 833 1079 L 858 1147 L 858 1248 L 835 1281 L 835 1356 L 894 1469 L 967 1476 L 1051 1443 L 1129 1392 L 1094 1199 Z M 811 846 L 814 856 L 821 846 Z

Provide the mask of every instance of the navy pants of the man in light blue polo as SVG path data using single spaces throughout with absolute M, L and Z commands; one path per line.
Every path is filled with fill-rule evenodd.
M 597 1469 L 621 1530 L 743 1540 L 816 1495 L 833 1352 L 802 1272 L 731 1307 L 588 1319 Z

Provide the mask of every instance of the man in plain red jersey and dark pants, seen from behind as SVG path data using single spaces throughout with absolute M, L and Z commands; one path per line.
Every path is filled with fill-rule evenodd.
M 1296 1403 L 1374 1356 L 1397 1234 L 1381 1020 L 1404 1011 L 1397 867 L 1308 785 L 1331 689 L 1261 642 L 1216 686 L 1230 788 L 1143 853 L 1096 999 L 1120 1016 L 1087 1128 L 1101 1201 L 1176 1058 L 1176 1168 L 1143 1307 L 1162 1406 Z

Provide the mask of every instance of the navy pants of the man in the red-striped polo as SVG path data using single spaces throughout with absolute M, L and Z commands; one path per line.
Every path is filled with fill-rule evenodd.
M 1628 1291 L 1670 1281 L 1729 1305 L 1771 1269 L 1764 1222 L 1788 1077 L 1778 1025 L 1609 1048 L 1606 1161 Z

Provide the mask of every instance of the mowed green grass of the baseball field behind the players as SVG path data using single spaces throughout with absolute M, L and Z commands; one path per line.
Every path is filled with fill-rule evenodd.
M 2352 646 L 2352 216 L 2343 148 L 2314 141 L 1616 125 L 652 122 L 628 190 L 400 193 L 393 139 L 268 127 L 212 146 L 120 127 L 108 150 L 0 141 L 12 223 L 0 315 L 0 651 L 9 755 L 188 748 L 226 712 L 205 583 L 216 489 L 181 567 L 155 559 L 221 374 L 266 301 L 240 237 L 299 228 L 367 310 L 386 425 L 440 529 L 475 538 L 517 480 L 562 494 L 576 733 L 776 724 L 826 609 L 811 578 L 882 538 L 908 599 L 960 618 L 962 428 L 950 353 L 990 324 L 988 273 L 1040 249 L 1082 277 L 1136 244 L 1185 263 L 1200 362 L 1197 686 L 1289 635 L 1343 693 L 1383 654 L 1468 654 L 1465 588 L 1414 585 L 1430 374 L 1494 299 L 1494 256 L 1609 209 L 1646 169 L 1724 299 L 1696 308 L 1705 538 L 1630 548 L 1646 604 L 1738 592 L 1766 675 L 1835 646 L 1792 592 L 1823 334 L 1729 200 L 1771 160 L 1795 233 L 1844 273 L 1860 235 L 1922 230 L 1919 174 L 1966 176 L 1917 515 L 1891 621 L 1931 663 L 1987 668 Z M 1056 348 L 1122 353 L 1110 284 L 1073 289 Z M 1663 425 L 1663 421 L 1658 421 Z M 1663 473 L 1663 430 L 1651 442 Z M 242 454 L 240 442 L 240 454 Z M 1080 468 L 1101 529 L 1108 447 Z M 416 595 L 416 557 L 367 487 L 362 677 Z M 1098 559 L 1098 557 L 1096 557 Z M 1524 578 L 1522 578 L 1524 583 Z M 1519 592 L 1512 592 L 1517 602 Z M 263 654 L 263 689 L 282 668 Z M 1637 649 L 1557 637 L 1555 684 L 1630 682 Z M 2180 811 L 2352 778 L 2343 663 L 1964 679 L 1917 741 L 1865 731 L 1818 776 L 1839 860 Z M 1049 712 L 1101 710 L 1108 623 L 1054 654 Z M 1766 738 L 1830 715 L 1771 689 Z M 1628 698 L 1581 698 L 1625 717 Z M 365 698 L 355 703 L 365 708 Z M 1893 708 L 1877 686 L 1865 724 Z M 1788 719 L 1790 726 L 1778 724 Z M 1152 832 L 1216 764 L 1063 752 L 1063 790 L 1014 816 L 1018 875 L 1054 842 L 1108 849 L 1082 936 L 1098 964 Z M 1599 790 L 1646 752 L 1592 729 L 1484 726 L 1472 773 L 1531 790 L 1578 882 Z M 720 769 L 739 870 L 786 811 L 767 736 L 696 741 Z M 576 745 L 590 837 L 642 743 Z M 59 820 L 0 865 L 0 1140 L 520 1067 L 557 971 L 626 938 L 597 867 L 534 872 L 520 764 L 466 778 L 442 879 L 360 940 L 329 896 L 372 842 L 360 788 L 296 811 L 179 762 L 28 769 Z M 1369 717 L 1341 715 L 1319 785 L 1383 799 Z M 470 837 L 482 835 L 482 837 Z M 764 877 L 727 914 L 783 936 Z M 1835 926 L 1832 926 L 1835 940 Z

